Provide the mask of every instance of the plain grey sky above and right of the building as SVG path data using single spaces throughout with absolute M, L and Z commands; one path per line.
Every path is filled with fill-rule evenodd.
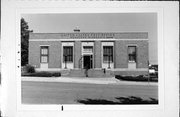
M 149 62 L 157 64 L 157 13 L 22 14 L 34 33 L 148 32 Z

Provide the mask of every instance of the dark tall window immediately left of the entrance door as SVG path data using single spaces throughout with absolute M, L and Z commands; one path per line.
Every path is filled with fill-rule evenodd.
M 73 46 L 63 47 L 63 62 L 73 62 Z

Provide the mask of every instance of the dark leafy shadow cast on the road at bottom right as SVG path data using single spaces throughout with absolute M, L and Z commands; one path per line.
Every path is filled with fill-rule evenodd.
M 111 101 L 106 99 L 83 99 L 77 100 L 77 102 L 82 104 L 120 104 L 120 105 L 135 105 L 135 104 L 158 104 L 158 100 L 154 98 L 149 98 L 144 100 L 140 97 L 129 96 L 129 97 L 116 97 L 117 101 Z

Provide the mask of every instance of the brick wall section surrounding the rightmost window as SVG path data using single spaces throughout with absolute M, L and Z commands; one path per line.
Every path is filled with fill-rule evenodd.
M 128 68 L 128 45 L 137 47 L 137 68 L 147 68 L 149 60 L 147 40 L 115 41 L 115 68 Z

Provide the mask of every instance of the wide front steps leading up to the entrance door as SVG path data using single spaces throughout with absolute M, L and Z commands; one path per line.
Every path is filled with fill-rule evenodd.
M 71 69 L 64 77 L 86 77 L 85 69 Z M 108 78 L 114 77 L 114 73 L 111 70 L 105 69 L 89 69 L 88 77 L 90 78 Z

